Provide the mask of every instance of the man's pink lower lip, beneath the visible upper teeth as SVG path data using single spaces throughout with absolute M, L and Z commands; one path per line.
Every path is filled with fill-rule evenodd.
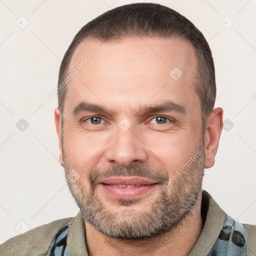
M 106 191 L 112 197 L 115 197 L 118 199 L 132 199 L 149 192 L 157 184 L 155 183 L 151 185 L 143 185 L 143 186 L 129 187 L 129 188 L 110 186 L 103 183 L 100 183 L 99 185 L 104 189 L 104 191 Z

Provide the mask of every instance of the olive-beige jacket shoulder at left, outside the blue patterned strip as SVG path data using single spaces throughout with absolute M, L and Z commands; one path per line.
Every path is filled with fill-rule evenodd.
M 29 256 L 45 254 L 59 228 L 72 219 L 72 217 L 58 219 L 10 238 L 0 244 L 0 255 Z

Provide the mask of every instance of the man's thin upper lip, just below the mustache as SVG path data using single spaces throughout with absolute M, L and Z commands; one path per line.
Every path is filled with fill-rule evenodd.
M 156 181 L 149 180 L 147 178 L 136 177 L 136 176 L 112 176 L 108 178 L 102 178 L 99 180 L 98 183 L 105 183 L 105 184 L 122 184 L 122 185 L 133 185 L 133 184 L 140 184 L 140 185 L 151 185 L 158 183 Z

